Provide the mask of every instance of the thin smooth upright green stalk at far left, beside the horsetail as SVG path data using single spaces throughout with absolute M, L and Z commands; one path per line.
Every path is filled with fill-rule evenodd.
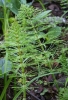
M 7 38 L 7 27 L 8 27 L 8 13 L 7 13 L 7 8 L 6 8 L 6 0 L 4 0 L 3 3 L 3 11 L 4 11 L 4 23 L 3 23 L 3 33 L 4 33 L 4 40 L 6 41 Z M 6 85 L 7 82 L 7 76 L 6 76 L 6 67 L 7 67 L 7 48 L 5 48 L 6 51 L 6 55 L 5 55 L 5 74 L 4 74 L 4 86 Z M 6 100 L 6 91 L 5 91 L 5 95 L 4 95 L 4 100 Z

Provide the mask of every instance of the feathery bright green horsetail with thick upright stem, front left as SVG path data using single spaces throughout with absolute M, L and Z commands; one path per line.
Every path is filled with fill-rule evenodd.
M 38 10 L 39 11 L 39 10 Z M 47 16 L 50 11 L 39 12 L 37 15 L 33 7 L 22 5 L 18 15 L 15 17 L 15 21 L 9 27 L 6 40 L 6 46 L 8 49 L 8 59 L 13 62 L 13 73 L 21 78 L 23 100 L 26 100 L 27 90 L 27 70 L 26 67 L 30 64 L 38 64 L 36 57 L 40 53 L 35 44 L 38 41 L 38 32 L 34 27 L 39 27 L 42 24 L 38 22 L 38 17 L 41 19 L 45 15 Z M 36 26 L 34 26 L 37 24 Z M 41 46 L 41 44 L 38 44 Z M 16 100 L 15 97 L 13 100 Z

